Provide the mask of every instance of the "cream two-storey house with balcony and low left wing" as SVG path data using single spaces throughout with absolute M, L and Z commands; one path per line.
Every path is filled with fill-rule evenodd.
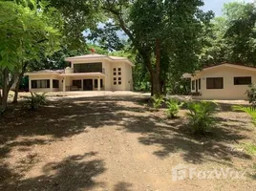
M 134 64 L 126 57 L 87 54 L 65 59 L 70 67 L 27 73 L 31 92 L 132 91 Z

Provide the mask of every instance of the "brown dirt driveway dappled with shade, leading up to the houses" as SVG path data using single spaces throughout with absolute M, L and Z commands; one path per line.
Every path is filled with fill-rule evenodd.
M 214 136 L 193 138 L 185 110 L 166 119 L 144 96 L 58 97 L 0 122 L 0 190 L 256 190 L 256 159 L 237 146 L 255 140 L 250 117 L 217 115 Z M 173 168 L 246 170 L 245 180 L 177 180 Z

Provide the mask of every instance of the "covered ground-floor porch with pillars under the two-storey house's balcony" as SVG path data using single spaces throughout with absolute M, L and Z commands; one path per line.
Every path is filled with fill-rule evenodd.
M 61 74 L 62 91 L 104 91 L 105 74 Z

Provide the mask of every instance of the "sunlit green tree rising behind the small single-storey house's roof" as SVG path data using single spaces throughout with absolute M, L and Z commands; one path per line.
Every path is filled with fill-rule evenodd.
M 205 35 L 202 62 L 256 65 L 256 8 L 254 4 L 233 2 L 224 5 L 224 16 L 212 22 Z

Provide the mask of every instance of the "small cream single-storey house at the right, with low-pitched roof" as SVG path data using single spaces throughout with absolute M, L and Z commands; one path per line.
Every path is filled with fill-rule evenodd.
M 193 98 L 247 99 L 248 86 L 256 83 L 256 68 L 223 63 L 206 67 L 189 77 Z

